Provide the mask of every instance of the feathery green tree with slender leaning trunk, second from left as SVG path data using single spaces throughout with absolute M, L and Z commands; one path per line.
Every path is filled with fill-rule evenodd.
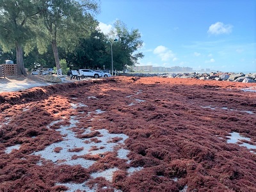
M 37 31 L 43 29 L 42 41 L 52 44 L 56 67 L 60 68 L 57 46 L 67 51 L 74 50 L 79 38 L 97 26 L 92 13 L 99 12 L 99 4 L 92 0 L 47 0 L 44 7 Z M 44 51 L 42 47 L 39 50 Z

